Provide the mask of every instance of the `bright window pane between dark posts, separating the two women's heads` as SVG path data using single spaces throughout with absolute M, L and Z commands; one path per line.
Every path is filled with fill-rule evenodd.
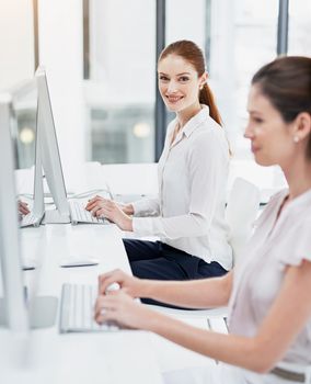
M 233 154 L 251 157 L 243 138 L 252 75 L 276 56 L 278 1 L 212 0 L 210 77 Z

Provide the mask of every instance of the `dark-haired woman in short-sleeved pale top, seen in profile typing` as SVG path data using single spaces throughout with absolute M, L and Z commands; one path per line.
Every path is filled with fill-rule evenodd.
M 218 360 L 166 383 L 311 383 L 311 58 L 283 57 L 257 71 L 249 95 L 255 160 L 278 165 L 288 189 L 272 197 L 234 270 L 188 282 L 139 280 L 122 271 L 100 278 L 99 323 L 154 331 Z M 113 282 L 119 292 L 104 295 Z M 229 305 L 229 335 L 197 329 L 131 297 L 185 307 Z

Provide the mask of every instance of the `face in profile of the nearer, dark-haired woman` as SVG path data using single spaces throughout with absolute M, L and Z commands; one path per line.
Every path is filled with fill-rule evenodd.
M 247 110 L 250 117 L 244 136 L 251 139 L 256 162 L 289 167 L 297 155 L 295 123 L 286 123 L 256 84 L 251 88 Z

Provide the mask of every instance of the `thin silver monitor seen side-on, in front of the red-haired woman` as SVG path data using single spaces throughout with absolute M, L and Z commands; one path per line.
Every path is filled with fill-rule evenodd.
M 47 78 L 44 68 L 35 74 L 38 108 L 35 160 L 35 203 L 42 201 L 43 179 L 45 178 L 56 210 L 46 210 L 45 223 L 70 223 L 70 208 L 59 156 L 55 122 L 53 116 Z M 44 171 L 44 172 L 43 172 Z

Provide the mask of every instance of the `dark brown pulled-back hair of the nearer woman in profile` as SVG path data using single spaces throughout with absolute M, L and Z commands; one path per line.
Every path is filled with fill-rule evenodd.
M 280 113 L 286 123 L 292 122 L 299 113 L 311 115 L 311 58 L 302 56 L 279 57 L 262 67 L 253 77 L 252 84 Z M 307 146 L 311 159 L 311 135 Z

